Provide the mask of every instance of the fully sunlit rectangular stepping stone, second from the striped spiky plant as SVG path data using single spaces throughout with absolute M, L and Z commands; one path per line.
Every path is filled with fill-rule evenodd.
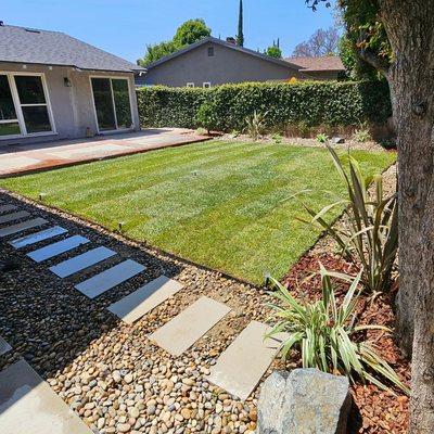
M 230 307 L 201 297 L 149 339 L 173 356 L 180 356 L 230 312 Z

